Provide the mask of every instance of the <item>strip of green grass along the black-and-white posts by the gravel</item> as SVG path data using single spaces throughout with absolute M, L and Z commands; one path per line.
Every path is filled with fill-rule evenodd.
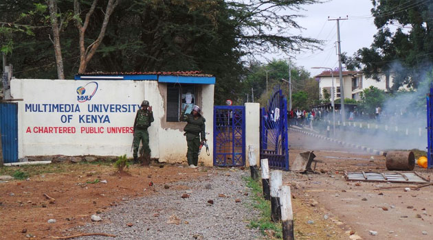
M 260 211 L 257 219 L 249 221 L 249 228 L 258 228 L 263 235 L 271 237 L 272 239 L 282 239 L 282 226 L 281 224 L 271 221 L 271 202 L 263 198 L 263 187 L 251 177 L 244 178 L 247 182 L 247 187 L 252 189 L 252 200 L 254 200 L 253 207 Z M 270 236 L 269 233 L 273 232 Z

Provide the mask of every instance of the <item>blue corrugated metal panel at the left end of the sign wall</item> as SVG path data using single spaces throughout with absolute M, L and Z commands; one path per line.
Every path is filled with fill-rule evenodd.
M 18 162 L 18 104 L 0 103 L 0 131 L 3 162 Z

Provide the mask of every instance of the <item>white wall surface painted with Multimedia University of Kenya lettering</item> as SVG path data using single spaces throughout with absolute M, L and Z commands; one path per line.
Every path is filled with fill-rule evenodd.
M 86 92 L 83 96 L 89 95 L 96 88 L 93 82 L 98 83 L 98 89 L 93 97 L 90 100 L 79 102 L 78 96 L 82 96 L 78 95 L 77 88 L 84 86 Z M 212 150 L 214 85 L 203 85 L 202 89 L 203 116 L 207 120 L 206 132 L 211 133 L 207 139 Z M 177 123 L 179 125 L 177 129 L 162 128 L 161 121 L 165 118 L 164 98 L 159 92 L 157 81 L 13 79 L 11 93 L 15 99 L 23 99 L 19 101 L 18 112 L 19 158 L 56 154 L 67 156 L 126 154 L 131 157 L 133 141 L 131 128 L 135 112 L 143 99 L 146 99 L 153 106 L 155 118 L 148 129 L 152 157 L 159 158 L 162 162 L 186 161 L 186 139 L 183 131 L 179 130 L 183 129 L 185 123 Z M 46 105 L 47 109 L 44 110 L 43 104 L 67 104 L 79 108 L 79 112 L 50 112 L 49 105 Z M 121 104 L 126 109 L 121 108 L 122 112 L 115 112 L 115 108 L 114 112 L 105 110 L 89 112 L 89 106 L 93 104 L 104 104 L 104 106 Z M 29 106 L 34 106 L 34 110 L 37 111 L 30 110 Z M 86 119 L 87 116 L 89 120 Z M 96 122 L 93 122 L 91 118 L 95 116 L 102 118 L 99 117 Z M 39 127 L 66 127 L 75 132 L 55 133 L 53 129 L 52 133 L 40 133 L 38 132 Z M 128 132 L 109 133 L 112 127 L 122 128 Z M 100 130 L 100 132 L 89 133 L 85 130 Z M 202 153 L 200 160 L 207 165 L 212 164 L 212 152 L 209 157 L 205 155 Z

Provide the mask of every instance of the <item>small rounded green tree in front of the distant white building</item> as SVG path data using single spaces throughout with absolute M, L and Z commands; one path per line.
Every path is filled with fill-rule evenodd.
M 359 101 L 359 108 L 368 115 L 374 115 L 377 107 L 382 108 L 386 100 L 385 91 L 370 86 L 361 92 L 361 100 Z

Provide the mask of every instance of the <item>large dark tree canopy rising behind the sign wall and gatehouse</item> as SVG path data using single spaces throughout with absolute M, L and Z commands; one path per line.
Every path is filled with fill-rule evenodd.
M 80 10 L 89 12 L 91 2 L 80 1 Z M 216 76 L 216 104 L 238 96 L 248 56 L 319 44 L 291 34 L 301 28 L 296 10 L 318 0 L 122 0 L 98 38 L 108 2 L 100 0 L 89 17 L 85 46 L 101 40 L 85 71 L 200 70 Z M 65 78 L 71 79 L 80 67 L 78 29 L 85 16 L 74 12 L 71 0 L 58 0 L 56 7 Z M 0 16 L 1 51 L 14 75 L 56 78 L 47 3 L 3 0 Z

